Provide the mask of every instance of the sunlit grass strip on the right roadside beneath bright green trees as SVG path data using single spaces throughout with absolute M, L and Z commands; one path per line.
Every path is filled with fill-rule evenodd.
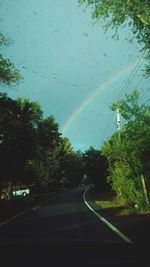
M 112 192 L 96 193 L 94 201 L 104 212 L 114 216 L 150 215 L 150 208 L 138 209 L 136 206 L 129 205 L 127 201 L 121 201 Z

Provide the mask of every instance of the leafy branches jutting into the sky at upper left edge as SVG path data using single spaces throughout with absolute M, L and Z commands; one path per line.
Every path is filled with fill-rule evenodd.
M 8 45 L 8 40 L 0 32 L 0 46 Z M 15 65 L 0 54 L 0 83 L 5 85 L 18 84 L 22 79 L 20 72 L 15 68 Z

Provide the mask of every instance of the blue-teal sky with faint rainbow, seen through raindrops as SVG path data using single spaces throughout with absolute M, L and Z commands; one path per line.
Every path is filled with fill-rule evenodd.
M 0 90 L 38 101 L 75 150 L 99 149 L 117 130 L 110 105 L 125 93 L 137 88 L 141 102 L 149 98 L 145 54 L 126 25 L 112 38 L 77 0 L 0 0 L 0 8 L 0 31 L 11 40 L 2 54 L 24 77 Z

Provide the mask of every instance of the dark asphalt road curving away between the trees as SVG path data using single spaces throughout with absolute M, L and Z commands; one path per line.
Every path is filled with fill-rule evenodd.
M 37 209 L 0 226 L 0 242 L 124 242 L 89 210 L 83 192 L 77 188 L 59 194 Z

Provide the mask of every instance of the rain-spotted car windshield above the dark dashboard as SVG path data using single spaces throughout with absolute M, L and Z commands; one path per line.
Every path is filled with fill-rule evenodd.
M 149 240 L 150 8 L 135 2 L 1 1 L 0 242 Z

